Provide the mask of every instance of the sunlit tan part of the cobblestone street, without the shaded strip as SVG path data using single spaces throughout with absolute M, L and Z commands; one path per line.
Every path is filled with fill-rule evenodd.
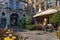
M 54 33 L 43 31 L 17 32 L 24 40 L 59 40 Z

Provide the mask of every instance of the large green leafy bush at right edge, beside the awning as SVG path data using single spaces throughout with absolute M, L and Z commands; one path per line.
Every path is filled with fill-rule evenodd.
M 49 22 L 55 23 L 55 24 L 60 24 L 60 12 L 54 13 L 50 19 Z

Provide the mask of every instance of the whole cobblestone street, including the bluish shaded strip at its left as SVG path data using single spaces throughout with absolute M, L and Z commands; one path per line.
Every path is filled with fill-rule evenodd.
M 19 27 L 12 28 L 19 37 L 23 40 L 59 40 L 55 33 L 45 31 L 29 31 L 20 29 Z

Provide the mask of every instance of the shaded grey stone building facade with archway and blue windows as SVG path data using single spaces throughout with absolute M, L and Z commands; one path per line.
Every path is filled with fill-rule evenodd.
M 19 20 L 28 15 L 25 0 L 3 0 L 0 1 L 0 8 L 1 26 L 18 26 Z

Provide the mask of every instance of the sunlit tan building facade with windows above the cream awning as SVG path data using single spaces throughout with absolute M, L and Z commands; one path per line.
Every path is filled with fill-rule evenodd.
M 34 10 L 35 14 L 48 9 L 60 10 L 60 0 L 30 0 L 28 3 L 32 5 L 32 11 Z

